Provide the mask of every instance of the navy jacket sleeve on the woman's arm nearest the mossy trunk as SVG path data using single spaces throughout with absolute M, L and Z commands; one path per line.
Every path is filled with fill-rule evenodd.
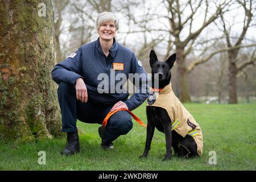
M 75 56 L 74 56 L 75 55 Z M 72 53 L 68 59 L 56 64 L 52 70 L 52 79 L 57 83 L 66 82 L 75 84 L 78 78 L 83 78 L 81 74 L 82 52 L 81 48 Z

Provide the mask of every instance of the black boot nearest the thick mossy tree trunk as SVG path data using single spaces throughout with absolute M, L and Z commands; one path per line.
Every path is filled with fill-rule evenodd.
M 67 146 L 61 152 L 61 155 L 73 155 L 80 152 L 79 136 L 76 132 L 67 132 Z

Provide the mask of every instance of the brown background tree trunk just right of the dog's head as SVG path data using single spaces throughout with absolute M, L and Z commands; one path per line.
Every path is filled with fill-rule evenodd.
M 191 102 L 189 84 L 188 84 L 188 70 L 185 65 L 184 49 L 177 48 L 177 73 L 179 76 L 179 90 L 180 90 L 180 101 L 181 102 Z

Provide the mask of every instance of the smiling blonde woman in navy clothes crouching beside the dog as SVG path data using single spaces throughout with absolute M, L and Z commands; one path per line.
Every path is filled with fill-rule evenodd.
M 99 38 L 81 46 L 68 59 L 55 65 L 52 71 L 53 80 L 59 84 L 62 131 L 67 132 L 67 146 L 61 152 L 63 155 L 80 151 L 77 119 L 86 123 L 102 124 L 109 111 L 133 110 L 148 96 L 147 76 L 141 62 L 130 49 L 114 38 L 118 30 L 117 17 L 110 12 L 101 13 L 97 17 L 96 27 Z M 140 75 L 131 80 L 139 81 L 139 86 L 127 99 L 129 93 L 113 91 L 112 88 L 118 85 L 118 80 L 115 79 L 118 74 L 125 75 L 127 79 L 130 73 Z M 106 76 L 103 81 L 99 79 L 102 75 Z M 118 111 L 110 117 L 106 127 L 98 129 L 101 147 L 112 149 L 112 142 L 120 135 L 127 134 L 132 127 L 130 114 L 127 111 Z

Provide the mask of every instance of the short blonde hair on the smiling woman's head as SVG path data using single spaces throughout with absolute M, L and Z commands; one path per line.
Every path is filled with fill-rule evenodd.
M 99 30 L 101 24 L 106 23 L 106 22 L 114 22 L 115 23 L 115 29 L 118 30 L 119 20 L 118 20 L 117 16 L 115 16 L 112 12 L 105 11 L 105 12 L 100 13 L 97 17 L 97 20 L 96 20 L 97 31 Z

